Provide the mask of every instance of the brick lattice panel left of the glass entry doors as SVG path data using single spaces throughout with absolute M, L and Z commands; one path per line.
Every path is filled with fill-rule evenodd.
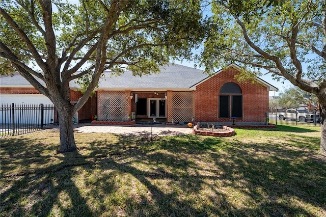
M 99 121 L 128 121 L 129 99 L 124 91 L 98 93 Z

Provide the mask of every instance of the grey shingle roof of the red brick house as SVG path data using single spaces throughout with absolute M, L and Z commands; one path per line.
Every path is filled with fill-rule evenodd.
M 231 64 L 228 67 L 235 67 L 241 70 L 239 66 Z M 223 70 L 219 70 L 212 76 L 219 74 Z M 207 76 L 203 70 L 194 69 L 187 66 L 169 63 L 167 66 L 160 67 L 160 73 L 149 75 L 133 76 L 131 71 L 125 71 L 119 76 L 112 75 L 111 71 L 105 71 L 105 76 L 100 79 L 97 90 L 196 90 L 196 86 L 208 80 L 211 76 Z M 44 82 L 37 80 L 45 86 Z M 277 90 L 273 85 L 268 84 L 264 80 L 257 78 L 258 82 L 264 85 L 267 90 Z M 1 87 L 33 87 L 20 74 L 2 77 L 0 79 Z M 70 82 L 71 88 L 79 86 Z

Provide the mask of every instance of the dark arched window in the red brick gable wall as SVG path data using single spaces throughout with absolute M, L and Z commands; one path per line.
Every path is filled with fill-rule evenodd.
M 226 83 L 220 90 L 220 118 L 242 118 L 242 91 L 235 83 Z

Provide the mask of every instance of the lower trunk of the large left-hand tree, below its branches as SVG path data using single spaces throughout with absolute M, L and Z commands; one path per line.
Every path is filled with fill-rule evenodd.
M 73 135 L 72 118 L 73 113 L 65 110 L 58 110 L 60 125 L 60 150 L 59 152 L 76 151 L 75 138 Z

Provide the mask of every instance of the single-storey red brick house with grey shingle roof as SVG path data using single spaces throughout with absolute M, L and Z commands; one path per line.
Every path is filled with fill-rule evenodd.
M 276 88 L 260 78 L 256 83 L 240 83 L 234 78 L 240 70 L 232 64 L 207 76 L 202 70 L 169 64 L 151 75 L 105 72 L 96 94 L 79 110 L 79 120 L 97 115 L 99 121 L 115 122 L 155 117 L 162 122 L 231 122 L 236 118 L 236 122 L 264 123 L 268 92 Z M 38 94 L 31 86 L 18 87 L 14 81 L 1 81 L 2 98 L 6 94 Z M 74 91 L 74 83 L 70 86 L 73 103 L 81 93 Z

